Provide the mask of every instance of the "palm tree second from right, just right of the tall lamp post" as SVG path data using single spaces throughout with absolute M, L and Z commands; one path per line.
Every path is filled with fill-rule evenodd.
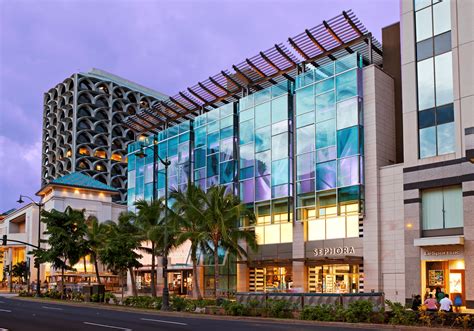
M 207 246 L 205 218 L 205 193 L 195 185 L 189 185 L 186 191 L 173 190 L 170 198 L 174 204 L 170 217 L 175 222 L 179 233 L 176 236 L 176 246 L 185 241 L 191 242 L 191 261 L 193 263 L 193 298 L 202 299 L 199 290 L 197 252 L 204 251 Z

